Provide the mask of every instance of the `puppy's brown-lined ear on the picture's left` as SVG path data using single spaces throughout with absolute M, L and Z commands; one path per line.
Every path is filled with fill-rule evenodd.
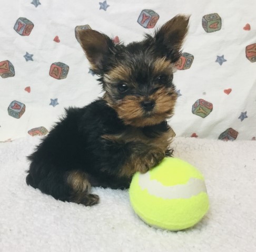
M 111 56 L 114 55 L 115 45 L 112 39 L 91 29 L 78 30 L 77 36 L 92 70 L 95 74 L 103 74 Z

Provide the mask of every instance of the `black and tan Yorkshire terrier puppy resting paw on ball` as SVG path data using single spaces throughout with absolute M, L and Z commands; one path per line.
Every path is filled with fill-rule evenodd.
M 104 95 L 83 108 L 68 108 L 60 122 L 28 156 L 26 183 L 56 199 L 91 206 L 91 186 L 127 188 L 171 155 L 177 99 L 175 62 L 189 18 L 178 15 L 140 42 L 114 44 L 96 30 L 78 38 L 98 75 Z

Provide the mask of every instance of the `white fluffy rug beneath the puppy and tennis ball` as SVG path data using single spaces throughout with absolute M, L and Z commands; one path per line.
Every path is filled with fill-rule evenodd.
M 256 251 L 256 141 L 178 138 L 175 156 L 204 174 L 211 202 L 194 228 L 167 232 L 147 226 L 127 191 L 95 188 L 97 206 L 56 201 L 25 183 L 38 138 L 0 143 L 0 251 Z

